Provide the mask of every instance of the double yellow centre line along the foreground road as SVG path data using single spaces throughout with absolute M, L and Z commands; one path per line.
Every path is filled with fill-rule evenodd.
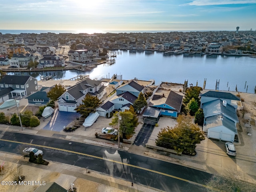
M 37 146 L 37 147 L 42 147 L 42 148 L 49 148 L 49 149 L 54 149 L 54 150 L 59 150 L 59 151 L 79 154 L 79 155 L 83 155 L 83 156 L 88 156 L 88 157 L 92 157 L 92 158 L 97 158 L 97 159 L 100 159 L 100 160 L 106 160 L 106 161 L 109 161 L 109 162 L 114 162 L 114 163 L 118 163 L 118 164 L 129 166 L 129 167 L 134 167 L 134 168 L 138 168 L 138 169 L 141 169 L 141 170 L 146 170 L 146 171 L 149 171 L 149 172 L 153 172 L 153 173 L 156 173 L 156 174 L 168 176 L 170 178 L 182 180 L 182 181 L 185 181 L 185 182 L 188 182 L 188 183 L 191 183 L 191 184 L 195 184 L 197 186 L 202 186 L 204 188 L 216 190 L 218 192 L 224 192 L 222 190 L 218 190 L 218 189 L 212 188 L 210 186 L 206 186 L 204 184 L 196 183 L 196 182 L 193 182 L 193 181 L 190 181 L 190 180 L 186 180 L 186 179 L 183 179 L 183 178 L 180 178 L 180 177 L 176 177 L 176 176 L 173 176 L 173 175 L 170 175 L 170 174 L 166 174 L 166 173 L 162 173 L 162 172 L 159 172 L 159 171 L 151 170 L 151 169 L 148 169 L 148 168 L 143 168 L 143 167 L 139 167 L 139 166 L 136 166 L 136 165 L 127 164 L 127 163 L 124 163 L 124 162 L 119 162 L 119 161 L 116 161 L 116 160 L 111 160 L 111 159 L 107 159 L 107 158 L 103 158 L 103 157 L 98 157 L 98 156 L 94 156 L 94 155 L 90 155 L 90 154 L 85 154 L 85 153 L 81 153 L 81 152 L 75 152 L 75 151 L 70 151 L 70 150 L 66 150 L 66 149 L 50 147 L 50 146 L 38 145 L 38 144 L 31 144 L 31 143 L 25 143 L 25 142 L 19 142 L 19 141 L 11 141 L 11 140 L 6 140 L 6 139 L 0 139 L 0 141 L 12 142 L 12 143 L 18 143 L 18 144 L 26 144 L 26 145 Z

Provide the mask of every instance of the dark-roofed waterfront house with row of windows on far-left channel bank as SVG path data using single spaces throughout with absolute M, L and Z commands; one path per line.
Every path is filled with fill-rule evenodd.
M 42 59 L 40 59 L 39 64 L 43 67 L 64 67 L 65 66 L 65 59 L 62 55 L 44 55 Z

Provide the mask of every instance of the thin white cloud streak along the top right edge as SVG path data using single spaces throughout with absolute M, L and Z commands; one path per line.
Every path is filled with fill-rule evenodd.
M 194 6 L 207 6 L 207 5 L 231 5 L 231 4 L 256 4 L 256 0 L 193 0 L 190 3 L 182 4 Z

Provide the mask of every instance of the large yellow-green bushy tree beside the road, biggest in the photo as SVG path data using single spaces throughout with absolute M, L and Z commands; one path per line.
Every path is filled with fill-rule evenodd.
M 194 154 L 196 144 L 204 140 L 204 134 L 198 125 L 192 122 L 191 116 L 179 115 L 177 124 L 172 128 L 162 128 L 158 133 L 156 145 L 174 149 L 176 152 Z

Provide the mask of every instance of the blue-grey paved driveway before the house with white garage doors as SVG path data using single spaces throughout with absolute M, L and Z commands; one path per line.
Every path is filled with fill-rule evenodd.
M 43 129 L 60 132 L 63 130 L 64 126 L 67 126 L 70 122 L 76 120 L 76 118 L 79 118 L 80 116 L 79 113 L 58 111 L 56 109 L 52 119 Z M 48 118 L 51 118 L 51 116 Z

